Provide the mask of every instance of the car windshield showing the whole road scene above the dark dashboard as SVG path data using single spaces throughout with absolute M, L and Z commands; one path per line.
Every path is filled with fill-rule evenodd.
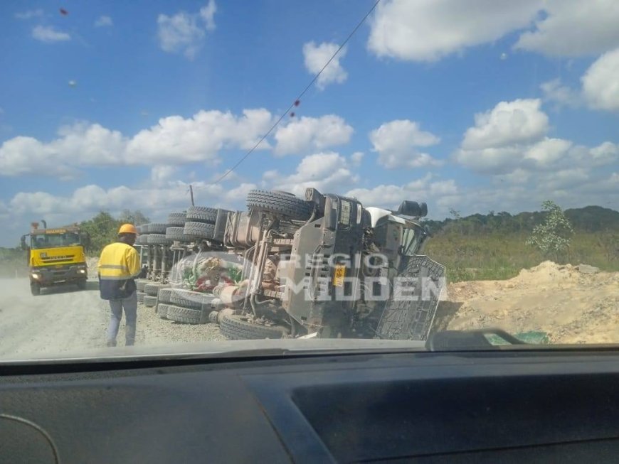
M 1 10 L 0 361 L 619 344 L 616 0 Z

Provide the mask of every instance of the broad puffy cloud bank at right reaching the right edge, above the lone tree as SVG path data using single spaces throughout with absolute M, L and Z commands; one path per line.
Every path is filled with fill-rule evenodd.
M 492 110 L 475 115 L 455 160 L 481 173 L 508 174 L 524 171 L 603 166 L 618 158 L 615 144 L 594 149 L 546 136 L 549 120 L 539 99 L 499 102 Z

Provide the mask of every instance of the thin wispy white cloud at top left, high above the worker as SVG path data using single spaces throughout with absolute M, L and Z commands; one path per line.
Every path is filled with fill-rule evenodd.
M 215 29 L 216 11 L 215 1 L 209 0 L 199 13 L 179 11 L 174 16 L 159 14 L 157 36 L 162 50 L 183 53 L 186 58 L 193 59 L 201 48 L 206 31 Z

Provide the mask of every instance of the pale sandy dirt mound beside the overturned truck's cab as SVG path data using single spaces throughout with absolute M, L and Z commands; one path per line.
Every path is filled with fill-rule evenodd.
M 541 330 L 551 343 L 619 343 L 619 273 L 544 261 L 507 281 L 450 284 L 435 329 Z

